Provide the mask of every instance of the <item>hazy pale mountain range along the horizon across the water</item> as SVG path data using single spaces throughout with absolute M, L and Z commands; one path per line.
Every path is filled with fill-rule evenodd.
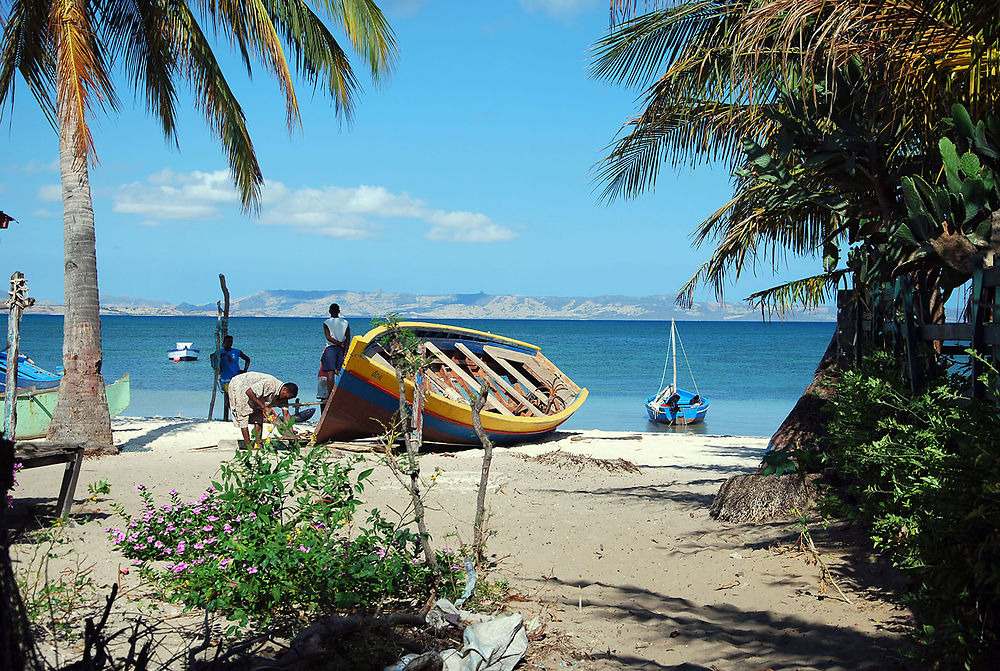
M 637 319 L 752 321 L 760 312 L 742 303 L 695 303 L 679 308 L 675 296 L 510 296 L 478 294 L 404 294 L 388 291 L 265 290 L 234 298 L 235 317 L 325 317 L 330 303 L 339 303 L 346 316 L 398 313 L 407 318 L 448 319 Z M 30 313 L 62 314 L 63 306 L 39 301 Z M 101 312 L 135 316 L 216 316 L 215 303 L 193 305 L 133 298 L 101 296 Z M 834 321 L 832 306 L 786 315 L 791 321 Z

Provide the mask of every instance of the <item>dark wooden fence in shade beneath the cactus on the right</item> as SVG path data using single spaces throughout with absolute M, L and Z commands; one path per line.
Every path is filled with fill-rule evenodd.
M 939 354 L 969 357 L 974 398 L 994 396 L 980 379 L 986 364 L 997 367 L 1000 362 L 1000 266 L 984 267 L 982 256 L 973 267 L 969 305 L 971 319 L 967 322 L 935 324 L 930 319 L 926 297 L 914 291 L 909 276 L 897 279 L 891 286 L 873 292 L 870 299 L 857 301 L 853 291 L 841 291 L 837 296 L 837 338 L 842 365 L 857 365 L 865 343 L 891 347 L 900 358 L 905 357 L 910 386 L 916 393 L 924 388 L 926 357 L 921 347 L 933 348 Z

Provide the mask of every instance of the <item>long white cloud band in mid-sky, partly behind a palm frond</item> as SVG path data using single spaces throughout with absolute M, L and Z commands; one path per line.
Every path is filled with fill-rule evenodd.
M 142 182 L 124 184 L 113 194 L 113 210 L 144 217 L 143 226 L 164 220 L 218 219 L 239 206 L 229 173 L 175 173 L 165 168 Z M 429 225 L 427 238 L 452 242 L 501 242 L 517 236 L 485 214 L 446 212 L 408 193 L 384 186 L 290 188 L 267 181 L 261 190 L 259 223 L 296 231 L 361 240 L 378 235 L 383 220 L 412 219 Z

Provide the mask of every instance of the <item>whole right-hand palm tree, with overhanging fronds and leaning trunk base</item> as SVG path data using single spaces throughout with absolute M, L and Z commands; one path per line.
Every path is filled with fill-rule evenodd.
M 885 278 L 912 260 L 893 248 L 903 180 L 934 181 L 953 103 L 981 115 L 1000 102 L 994 3 L 984 11 L 969 0 L 652 0 L 637 15 L 640 4 L 612 0 L 613 29 L 596 46 L 595 76 L 644 90 L 641 111 L 599 165 L 603 197 L 653 189 L 664 164 L 715 160 L 735 175 L 733 198 L 697 229 L 696 242 L 715 250 L 682 302 L 699 283 L 721 297 L 725 280 L 760 264 L 777 270 L 788 252 L 821 257 L 821 272 L 751 297 L 762 307 L 815 304 L 858 269 Z M 939 270 L 921 271 L 936 296 Z M 812 392 L 835 352 L 831 340 L 773 447 L 798 447 L 819 429 L 822 401 Z M 713 514 L 783 514 L 785 495 L 801 491 L 789 482 L 727 483 Z

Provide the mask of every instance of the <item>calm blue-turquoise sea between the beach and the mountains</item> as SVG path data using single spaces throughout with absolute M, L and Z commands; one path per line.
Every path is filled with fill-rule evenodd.
M 350 317 L 363 334 L 368 318 Z M 6 330 L 6 319 L 0 319 Z M 323 320 L 301 317 L 235 317 L 229 333 L 251 358 L 250 369 L 295 382 L 299 397 L 315 400 L 323 349 Z M 664 379 L 670 322 L 549 319 L 466 319 L 449 324 L 489 331 L 541 347 L 581 387 L 583 407 L 562 428 L 571 430 L 694 432 L 770 436 L 791 410 L 833 335 L 832 322 L 677 322 L 685 360 L 677 381 L 711 402 L 704 424 L 666 427 L 650 422 L 645 401 Z M 209 356 L 215 349 L 214 317 L 104 316 L 105 383 L 131 374 L 126 415 L 207 418 L 212 396 Z M 197 361 L 175 363 L 167 350 L 193 342 Z M 680 348 L 678 348 L 680 349 Z M 62 317 L 24 316 L 21 352 L 42 368 L 62 363 Z M 669 382 L 671 370 L 666 370 Z M 692 377 L 694 382 L 692 383 Z M 215 416 L 221 418 L 221 394 Z

